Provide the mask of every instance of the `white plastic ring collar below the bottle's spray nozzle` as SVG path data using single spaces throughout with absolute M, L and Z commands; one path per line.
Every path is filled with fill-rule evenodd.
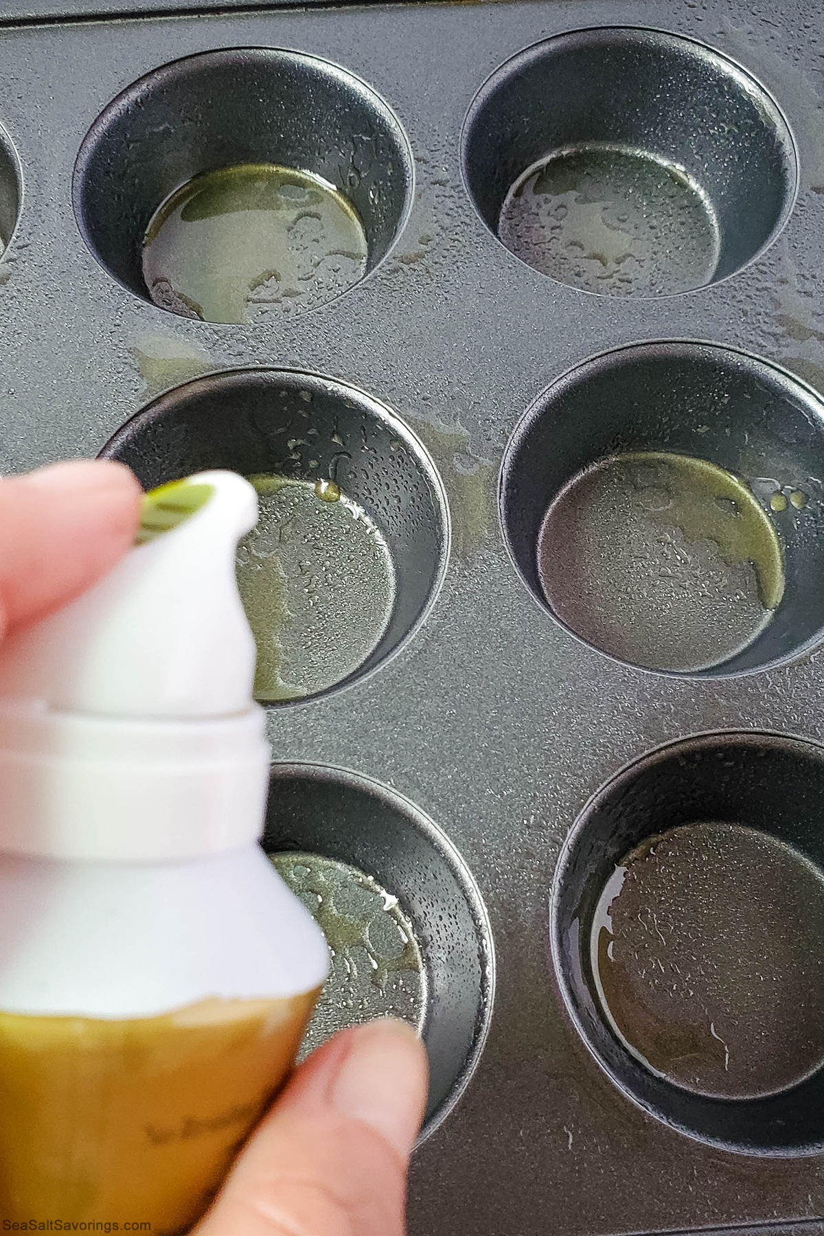
M 164 861 L 237 849 L 262 831 L 263 711 L 116 719 L 0 702 L 0 850 Z

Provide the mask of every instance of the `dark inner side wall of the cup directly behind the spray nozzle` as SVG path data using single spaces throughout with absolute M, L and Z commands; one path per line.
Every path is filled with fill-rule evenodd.
M 331 480 L 364 507 L 389 548 L 394 603 L 377 646 L 343 682 L 403 648 L 437 595 L 448 550 L 440 478 L 416 438 L 353 387 L 277 370 L 200 378 L 153 400 L 105 454 L 128 464 L 145 489 L 227 467 Z

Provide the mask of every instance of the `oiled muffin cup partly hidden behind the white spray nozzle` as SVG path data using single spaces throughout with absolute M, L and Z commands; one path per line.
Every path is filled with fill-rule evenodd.
M 424 620 L 448 554 L 426 450 L 377 399 L 290 370 L 198 378 L 107 442 L 145 488 L 224 467 L 258 491 L 238 586 L 262 703 L 316 696 L 393 656 Z

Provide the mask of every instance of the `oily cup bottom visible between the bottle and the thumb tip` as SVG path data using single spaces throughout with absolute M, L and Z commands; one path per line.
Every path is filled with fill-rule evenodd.
M 423 1030 L 426 971 L 398 897 L 364 871 L 317 854 L 272 854 L 271 861 L 317 921 L 331 970 L 299 1059 L 330 1035 L 374 1017 L 401 1017 Z

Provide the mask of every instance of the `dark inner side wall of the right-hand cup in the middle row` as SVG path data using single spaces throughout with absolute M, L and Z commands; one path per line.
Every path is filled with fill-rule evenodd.
M 765 504 L 776 486 L 802 483 L 812 491 L 808 478 L 824 476 L 824 403 L 770 365 L 728 349 L 688 344 L 623 349 L 566 375 L 529 409 L 502 471 L 507 541 L 539 603 L 551 611 L 535 545 L 558 491 L 599 460 L 670 450 L 751 478 Z M 788 515 L 772 517 L 782 539 L 786 578 L 775 618 L 742 653 L 703 672 L 745 674 L 820 641 L 824 512 L 818 498 L 817 488 L 801 513 L 786 503 Z M 565 548 L 571 552 L 568 544 Z M 689 590 L 682 591 L 689 604 Z M 645 614 L 639 609 L 625 622 L 644 624 Z

